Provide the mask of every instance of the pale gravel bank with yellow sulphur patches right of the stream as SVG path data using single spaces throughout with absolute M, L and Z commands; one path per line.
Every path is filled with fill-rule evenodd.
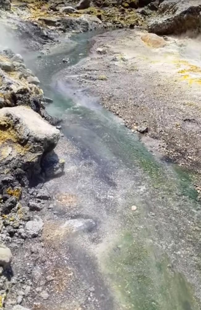
M 155 48 L 142 35 L 140 29 L 98 35 L 90 57 L 68 74 L 153 153 L 200 173 L 199 38 L 167 37 Z

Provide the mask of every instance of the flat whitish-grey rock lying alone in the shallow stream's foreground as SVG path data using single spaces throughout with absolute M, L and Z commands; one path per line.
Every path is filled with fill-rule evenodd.
M 87 231 L 91 232 L 95 227 L 96 223 L 93 219 L 69 219 L 66 221 L 61 228 L 70 228 L 74 232 L 76 231 Z

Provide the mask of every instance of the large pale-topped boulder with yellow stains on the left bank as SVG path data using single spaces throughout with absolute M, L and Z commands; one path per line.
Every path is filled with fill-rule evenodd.
M 28 177 L 41 172 L 41 158 L 51 152 L 59 130 L 24 106 L 0 109 L 0 172 L 21 168 Z

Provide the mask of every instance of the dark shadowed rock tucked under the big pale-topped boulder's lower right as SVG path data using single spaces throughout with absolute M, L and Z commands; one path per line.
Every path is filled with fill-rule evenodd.
M 42 159 L 42 170 L 47 178 L 59 175 L 64 170 L 65 161 L 59 159 L 54 151 L 47 153 Z

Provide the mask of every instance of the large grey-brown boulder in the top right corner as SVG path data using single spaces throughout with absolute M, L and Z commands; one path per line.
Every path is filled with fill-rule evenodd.
M 200 32 L 200 0 L 164 0 L 158 16 L 148 25 L 148 31 L 156 34 L 179 34 L 188 30 Z

